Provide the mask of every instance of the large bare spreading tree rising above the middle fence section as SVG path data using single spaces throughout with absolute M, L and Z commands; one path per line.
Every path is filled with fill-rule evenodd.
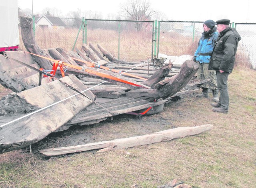
M 150 20 L 150 17 L 156 14 L 150 6 L 149 0 L 127 0 L 126 3 L 121 4 L 121 11 L 130 20 L 146 21 Z M 142 23 L 136 22 L 135 27 L 137 30 L 141 30 Z

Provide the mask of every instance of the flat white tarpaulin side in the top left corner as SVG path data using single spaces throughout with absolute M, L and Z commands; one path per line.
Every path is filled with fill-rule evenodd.
M 0 47 L 18 46 L 18 0 L 0 3 Z

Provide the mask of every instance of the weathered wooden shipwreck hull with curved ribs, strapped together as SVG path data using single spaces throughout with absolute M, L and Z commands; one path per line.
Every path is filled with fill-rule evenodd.
M 0 100 L 0 153 L 36 143 L 72 125 L 98 123 L 122 113 L 141 115 L 139 110 L 148 108 L 148 114 L 158 113 L 166 99 L 203 83 L 191 83 L 198 69 L 194 61 L 187 60 L 181 66 L 169 63 L 156 70 L 148 62 L 118 60 L 99 44 L 100 51 L 92 44 L 83 44 L 86 53 L 79 49 L 76 53 L 60 48 L 40 49 L 32 34 L 32 20 L 20 17 L 20 25 L 27 51 L 0 54 L 0 83 L 15 92 Z M 37 70 L 51 70 L 54 62 L 49 59 L 82 65 L 83 69 L 68 67 L 63 78 L 57 70 L 56 79 L 41 77 L 39 86 L 41 78 Z M 94 63 L 95 67 L 86 66 L 85 61 Z M 97 65 L 105 65 L 112 71 L 97 68 Z M 84 71 L 84 67 L 88 71 Z M 129 69 L 136 78 L 124 74 Z

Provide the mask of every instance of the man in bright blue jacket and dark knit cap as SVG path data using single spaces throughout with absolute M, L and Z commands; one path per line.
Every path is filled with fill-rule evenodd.
M 212 90 L 213 101 L 218 102 L 218 87 L 216 82 L 216 71 L 208 70 L 210 57 L 218 38 L 218 32 L 216 31 L 215 22 L 213 20 L 206 20 L 203 24 L 204 32 L 198 42 L 198 48 L 194 54 L 193 61 L 198 62 L 199 69 L 197 71 L 197 79 L 204 80 L 210 79 L 204 83 L 202 87 L 202 94 L 196 97 L 208 98 L 209 88 Z

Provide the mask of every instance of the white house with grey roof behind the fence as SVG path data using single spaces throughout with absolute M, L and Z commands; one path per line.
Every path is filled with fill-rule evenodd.
M 43 15 L 36 20 L 36 27 L 42 29 L 63 29 L 65 26 L 64 22 L 56 16 Z

